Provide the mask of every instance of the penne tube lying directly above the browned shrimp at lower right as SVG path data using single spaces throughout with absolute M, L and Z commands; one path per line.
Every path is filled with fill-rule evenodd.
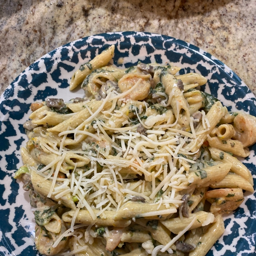
M 222 180 L 211 183 L 211 188 L 240 188 L 244 190 L 248 190 L 250 192 L 254 192 L 253 186 L 250 184 L 249 181 L 245 180 L 244 178 L 236 175 L 232 172 L 227 174 Z

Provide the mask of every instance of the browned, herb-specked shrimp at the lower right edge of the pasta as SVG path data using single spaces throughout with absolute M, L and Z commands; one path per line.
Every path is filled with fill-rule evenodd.
M 244 201 L 242 189 L 214 189 L 205 194 L 212 205 L 210 212 L 230 213 Z

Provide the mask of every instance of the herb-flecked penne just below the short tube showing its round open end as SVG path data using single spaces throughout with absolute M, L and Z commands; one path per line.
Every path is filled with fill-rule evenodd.
M 218 137 L 207 138 L 210 147 L 230 152 L 239 157 L 247 157 L 250 152 L 243 148 L 239 140 L 221 140 Z

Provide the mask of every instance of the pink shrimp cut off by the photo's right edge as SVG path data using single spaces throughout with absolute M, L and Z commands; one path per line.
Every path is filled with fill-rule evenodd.
M 256 117 L 240 113 L 234 118 L 235 134 L 233 139 L 241 141 L 243 147 L 256 142 Z

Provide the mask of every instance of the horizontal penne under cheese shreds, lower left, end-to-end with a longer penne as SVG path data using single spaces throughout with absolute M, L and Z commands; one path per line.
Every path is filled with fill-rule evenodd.
M 93 212 L 97 214 L 99 210 L 93 210 Z M 102 217 L 102 215 L 99 215 L 99 217 L 96 219 L 96 222 L 95 222 L 95 220 L 93 220 L 93 218 L 91 217 L 90 212 L 88 212 L 87 210 L 79 210 L 79 213 L 76 216 L 75 223 L 87 224 L 87 225 L 96 223 L 97 225 L 114 226 L 114 227 L 127 227 L 131 224 L 131 220 L 121 219 L 119 221 L 113 221 L 113 216 L 115 215 L 115 213 L 116 212 L 106 210 L 104 211 L 106 218 Z M 65 222 L 71 223 L 74 214 L 75 214 L 75 211 L 73 210 L 69 212 L 65 212 L 62 215 L 62 219 Z

